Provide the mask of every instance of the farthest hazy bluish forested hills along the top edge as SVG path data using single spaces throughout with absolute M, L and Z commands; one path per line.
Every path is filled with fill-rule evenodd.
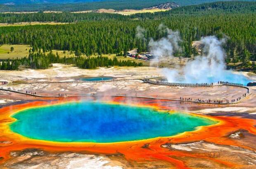
M 80 2 L 87 3 L 80 3 Z M 48 0 L 44 3 L 37 3 L 35 0 L 31 1 L 33 3 L 19 3 L 19 0 L 9 0 L 9 2 L 14 2 L 15 5 L 0 5 L 0 12 L 31 12 L 31 11 L 86 11 L 95 9 L 143 9 L 147 7 L 152 7 L 166 2 L 175 2 L 180 6 L 186 5 L 198 5 L 202 3 L 216 2 L 220 0 L 102 0 L 98 2 L 90 2 L 90 0 L 80 1 L 76 0 L 76 3 L 70 3 L 73 1 L 67 0 L 66 3 L 57 3 L 59 1 Z M 95 0 L 94 0 L 95 1 Z M 232 1 L 232 0 L 221 0 L 221 1 Z M 255 0 L 245 0 L 254 1 Z M 1 2 L 1 1 L 0 1 Z M 6 3 L 7 1 L 2 1 Z M 17 3 L 18 2 L 18 3 Z M 46 3 L 45 3 L 46 2 Z M 35 5 L 35 3 L 37 3 Z M 56 4 L 57 3 L 57 4 Z M 1 3 L 0 3 L 1 4 Z M 16 5 L 17 4 L 17 5 Z

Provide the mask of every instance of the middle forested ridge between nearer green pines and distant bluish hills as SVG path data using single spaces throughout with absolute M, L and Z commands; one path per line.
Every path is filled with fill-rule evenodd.
M 155 12 L 155 13 L 140 13 L 133 14 L 131 16 L 122 16 L 120 14 L 108 14 L 108 13 L 25 13 L 25 14 L 0 14 L 0 23 L 18 23 L 18 22 L 79 22 L 85 20 L 107 20 L 107 19 L 161 19 L 166 16 L 179 16 L 179 15 L 211 15 L 211 14 L 230 14 L 230 13 L 255 13 L 256 2 L 214 2 L 201 5 L 192 5 L 185 7 L 178 7 L 167 12 Z M 191 16 L 190 16 L 191 17 Z

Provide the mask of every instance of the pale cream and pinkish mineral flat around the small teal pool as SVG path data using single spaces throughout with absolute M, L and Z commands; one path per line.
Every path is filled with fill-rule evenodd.
M 114 80 L 83 82 L 81 77 L 111 76 Z M 95 70 L 80 69 L 68 65 L 54 64 L 45 70 L 25 69 L 20 71 L 0 71 L 0 82 L 8 82 L 0 89 L 0 104 L 16 98 L 45 96 L 130 96 L 175 101 L 232 104 L 251 101 L 255 87 L 248 88 L 226 84 L 208 86 L 180 86 L 150 84 L 145 77 L 160 77 L 161 69 L 155 67 L 112 67 Z M 255 78 L 255 77 L 254 77 Z M 10 92 L 13 91 L 13 92 Z M 19 92 L 19 93 L 18 93 Z M 7 99 L 7 100 L 6 100 Z M 9 99 L 9 100 L 8 100 Z M 248 101 L 246 101 L 248 102 Z

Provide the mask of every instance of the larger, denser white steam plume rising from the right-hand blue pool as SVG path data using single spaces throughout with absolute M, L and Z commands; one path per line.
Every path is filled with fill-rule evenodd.
M 215 36 L 207 36 L 201 38 L 201 42 L 204 44 L 201 56 L 188 61 L 179 72 L 169 69 L 163 71 L 168 82 L 211 83 L 225 79 L 223 73 L 226 71 L 226 54 L 222 47 L 225 39 L 218 40 Z

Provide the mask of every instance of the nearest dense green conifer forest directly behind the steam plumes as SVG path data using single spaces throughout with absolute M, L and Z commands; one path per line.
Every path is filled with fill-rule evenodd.
M 152 37 L 158 39 L 165 34 L 158 31 L 164 23 L 168 28 L 180 31 L 183 38 L 184 56 L 191 55 L 191 43 L 201 36 L 224 35 L 228 39 L 227 50 L 234 45 L 239 52 L 246 47 L 255 54 L 256 14 L 227 15 L 177 15 L 161 20 L 106 20 L 86 21 L 85 23 L 56 26 L 21 26 L 0 28 L 0 44 L 31 44 L 37 49 L 76 50 L 92 55 L 99 53 L 119 53 L 122 50 L 142 48 L 147 50 L 147 43 Z M 135 38 L 135 29 L 140 25 L 146 28 L 146 41 Z

